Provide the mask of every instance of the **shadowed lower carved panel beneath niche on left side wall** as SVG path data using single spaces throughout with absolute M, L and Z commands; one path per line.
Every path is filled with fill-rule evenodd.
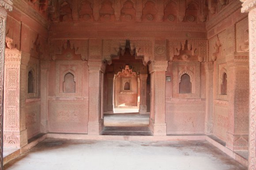
M 27 138 L 40 133 L 40 100 L 26 100 L 26 129 Z

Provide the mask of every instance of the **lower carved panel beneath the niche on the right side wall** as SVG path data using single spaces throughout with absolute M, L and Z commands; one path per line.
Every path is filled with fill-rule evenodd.
M 213 118 L 213 134 L 215 134 L 221 140 L 226 141 L 228 126 L 229 126 L 228 102 L 215 100 L 214 118 Z

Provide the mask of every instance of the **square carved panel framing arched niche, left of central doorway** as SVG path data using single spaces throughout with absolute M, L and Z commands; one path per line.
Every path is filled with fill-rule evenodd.
M 82 96 L 82 70 L 83 65 L 81 61 L 56 61 L 56 96 Z M 64 78 L 66 74 L 71 73 L 74 76 L 75 91 L 65 92 Z

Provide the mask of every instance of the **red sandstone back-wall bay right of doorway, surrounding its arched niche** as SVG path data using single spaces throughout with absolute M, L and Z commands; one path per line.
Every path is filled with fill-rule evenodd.
M 191 78 L 196 77 L 192 83 L 196 83 L 194 94 L 178 94 L 178 76 L 177 68 L 182 65 L 193 67 L 193 63 L 180 61 L 178 63 L 169 63 L 166 76 L 171 77 L 171 81 L 166 81 L 166 131 L 167 134 L 193 134 L 204 133 L 205 125 L 205 86 L 204 72 L 195 71 Z M 200 69 L 200 63 L 197 62 L 194 68 Z M 182 70 L 182 69 L 180 69 Z M 192 69 L 191 69 L 192 70 Z M 196 69 L 195 69 L 196 70 Z M 193 85 L 192 85 L 193 86 Z M 182 96 L 179 96 L 182 95 Z

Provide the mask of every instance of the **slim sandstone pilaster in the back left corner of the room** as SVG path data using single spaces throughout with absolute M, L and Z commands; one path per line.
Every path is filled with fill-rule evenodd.
M 41 133 L 48 132 L 48 80 L 49 80 L 49 61 L 41 61 Z

